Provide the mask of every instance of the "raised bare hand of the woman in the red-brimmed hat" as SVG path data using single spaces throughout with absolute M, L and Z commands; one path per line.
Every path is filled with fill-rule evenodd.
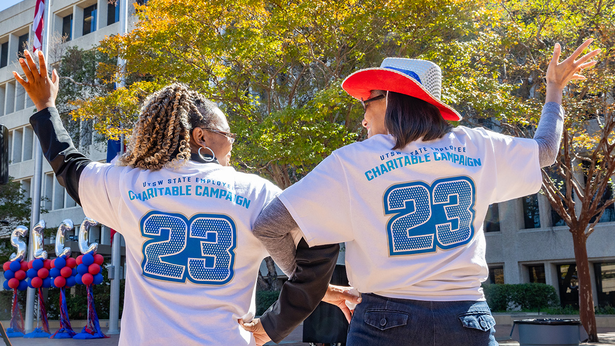
M 579 46 L 576 50 L 574 50 L 573 54 L 570 55 L 563 62 L 559 62 L 560 54 L 561 54 L 561 46 L 559 43 L 555 44 L 553 49 L 553 56 L 551 57 L 551 61 L 549 63 L 549 68 L 547 68 L 547 99 L 546 102 L 557 102 L 561 103 L 561 92 L 563 91 L 566 84 L 572 80 L 583 80 L 585 76 L 582 75 L 582 71 L 585 68 L 590 68 L 593 65 L 598 63 L 596 60 L 589 61 L 591 58 L 600 54 L 601 49 L 595 49 L 591 52 L 583 55 L 581 58 L 577 59 L 579 55 L 587 48 L 593 39 L 587 39 L 581 46 Z

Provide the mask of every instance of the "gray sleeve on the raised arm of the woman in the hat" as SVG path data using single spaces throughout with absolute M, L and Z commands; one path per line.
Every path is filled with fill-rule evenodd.
M 541 167 L 555 163 L 560 151 L 561 134 L 564 129 L 564 108 L 559 103 L 549 102 L 542 107 L 542 115 L 534 140 L 538 142 L 538 161 Z

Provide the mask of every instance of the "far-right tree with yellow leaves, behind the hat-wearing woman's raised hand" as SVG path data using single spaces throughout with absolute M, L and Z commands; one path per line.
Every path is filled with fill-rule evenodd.
M 570 47 L 589 37 L 595 47 L 613 47 L 615 25 L 613 1 L 517 1 L 493 3 L 499 14 L 493 25 L 484 25 L 493 38 L 491 49 L 500 52 L 486 68 L 494 68 L 501 94 L 511 107 L 499 113 L 487 108 L 505 131 L 531 137 L 538 121 L 541 95 L 549 57 L 555 42 Z M 603 49 L 600 64 L 584 71 L 587 81 L 570 84 L 563 102 L 566 109 L 561 152 L 554 166 L 542 170 L 542 192 L 572 234 L 579 278 L 579 310 L 589 340 L 598 341 L 592 287 L 585 246 L 603 213 L 615 199 L 609 195 L 615 173 L 615 114 L 613 108 L 613 49 Z M 524 115 L 525 113 L 525 115 Z

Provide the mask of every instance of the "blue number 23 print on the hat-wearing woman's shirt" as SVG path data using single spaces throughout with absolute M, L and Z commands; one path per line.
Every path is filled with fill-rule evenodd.
M 389 255 L 452 249 L 474 236 L 474 182 L 468 177 L 401 183 L 384 193 Z

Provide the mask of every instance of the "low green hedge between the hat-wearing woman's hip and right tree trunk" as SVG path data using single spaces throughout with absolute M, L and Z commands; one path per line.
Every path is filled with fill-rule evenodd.
M 505 312 L 515 307 L 540 310 L 559 304 L 555 288 L 548 284 L 483 284 L 482 287 L 487 304 L 494 312 Z

